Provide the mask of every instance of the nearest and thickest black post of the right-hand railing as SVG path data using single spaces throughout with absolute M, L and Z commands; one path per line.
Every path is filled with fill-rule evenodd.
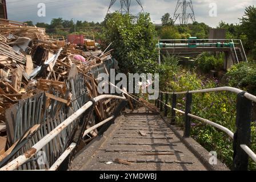
M 237 96 L 237 131 L 234 134 L 233 170 L 247 171 L 249 156 L 242 150 L 241 144 L 250 146 L 252 102 L 245 97 L 246 92 Z

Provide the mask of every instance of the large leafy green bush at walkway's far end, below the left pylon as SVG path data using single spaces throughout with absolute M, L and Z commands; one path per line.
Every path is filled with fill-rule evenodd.
M 113 42 L 113 56 L 122 73 L 153 73 L 157 68 L 155 28 L 149 14 L 140 14 L 134 23 L 130 15 L 113 13 L 105 20 L 102 40 Z

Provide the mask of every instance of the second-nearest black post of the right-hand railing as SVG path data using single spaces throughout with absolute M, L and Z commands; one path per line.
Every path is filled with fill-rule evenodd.
M 188 114 L 191 114 L 192 94 L 186 94 L 186 111 L 185 111 L 185 131 L 184 137 L 190 137 L 191 118 Z

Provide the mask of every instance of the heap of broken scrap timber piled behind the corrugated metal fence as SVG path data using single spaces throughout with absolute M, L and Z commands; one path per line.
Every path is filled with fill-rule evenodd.
M 89 71 L 109 60 L 110 52 L 88 55 L 73 44 L 50 39 L 44 28 L 0 19 L 0 155 L 6 142 L 6 109 L 41 92 L 69 106 L 72 94 L 64 97 L 66 81 L 74 70 L 89 79 L 89 97 L 98 96 L 97 81 Z M 95 106 L 98 117 L 106 118 L 113 106 L 111 100 Z

